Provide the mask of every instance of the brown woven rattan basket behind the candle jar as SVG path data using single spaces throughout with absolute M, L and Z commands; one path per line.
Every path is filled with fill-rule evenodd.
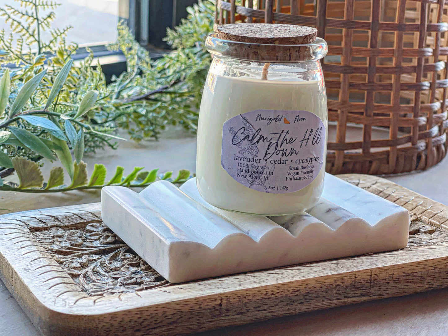
M 215 22 L 315 26 L 329 45 L 327 172 L 390 174 L 446 154 L 447 11 L 448 0 L 217 0 Z

